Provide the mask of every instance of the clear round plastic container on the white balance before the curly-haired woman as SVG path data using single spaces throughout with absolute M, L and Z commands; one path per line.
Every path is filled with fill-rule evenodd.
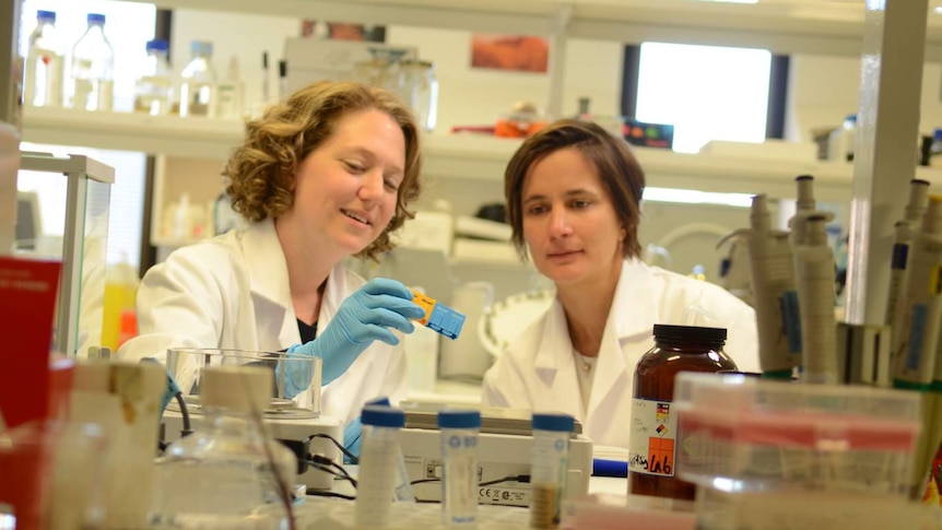
M 199 413 L 204 407 L 201 379 L 204 368 L 248 365 L 263 366 L 274 378 L 268 404 L 262 408 L 266 419 L 304 420 L 320 415 L 322 363 L 313 355 L 295 355 L 289 358 L 284 352 L 216 348 L 174 348 L 167 350 L 166 355 L 167 372 L 182 389 L 184 400 L 190 412 Z M 289 391 L 290 369 L 310 374 L 310 386 L 295 396 L 291 396 Z M 173 401 L 168 409 L 178 410 L 178 405 Z

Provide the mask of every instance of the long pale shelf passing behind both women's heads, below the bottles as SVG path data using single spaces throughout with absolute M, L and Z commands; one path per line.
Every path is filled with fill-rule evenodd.
M 165 156 L 224 161 L 243 137 L 238 120 L 180 118 L 122 113 L 27 108 L 27 142 L 140 151 Z M 520 140 L 475 133 L 428 134 L 424 169 L 432 178 L 463 178 L 499 186 Z M 685 154 L 635 148 L 648 186 L 716 192 L 794 196 L 794 177 L 813 175 L 823 201 L 850 200 L 853 165 L 815 160 L 778 160 L 728 154 Z M 217 173 L 213 172 L 213 178 Z M 919 167 L 916 176 L 942 185 L 942 172 Z

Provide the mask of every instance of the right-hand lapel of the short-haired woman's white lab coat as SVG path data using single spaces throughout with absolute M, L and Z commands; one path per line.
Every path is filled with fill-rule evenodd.
M 633 338 L 650 332 L 657 303 L 648 269 L 636 260 L 625 260 L 602 334 L 589 397 L 586 415 L 593 425 L 627 421 L 611 414 L 624 398 L 622 393 L 631 388 L 635 360 L 644 352 L 624 352 L 622 348 L 632 343 Z

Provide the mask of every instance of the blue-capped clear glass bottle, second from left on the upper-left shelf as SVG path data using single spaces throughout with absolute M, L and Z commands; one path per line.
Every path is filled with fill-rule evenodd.
M 115 50 L 105 36 L 105 15 L 89 13 L 89 27 L 72 47 L 71 107 L 111 110 L 115 89 Z

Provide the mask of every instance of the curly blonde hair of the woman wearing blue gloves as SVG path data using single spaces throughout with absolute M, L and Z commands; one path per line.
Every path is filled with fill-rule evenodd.
M 323 81 L 308 85 L 269 106 L 246 122 L 246 137 L 223 169 L 233 209 L 249 221 L 278 219 L 294 203 L 294 178 L 302 161 L 337 130 L 348 115 L 376 109 L 386 113 L 405 137 L 405 175 L 389 225 L 356 256 L 373 260 L 395 245 L 389 234 L 414 216 L 408 204 L 419 198 L 422 155 L 412 110 L 392 93 L 360 83 Z

